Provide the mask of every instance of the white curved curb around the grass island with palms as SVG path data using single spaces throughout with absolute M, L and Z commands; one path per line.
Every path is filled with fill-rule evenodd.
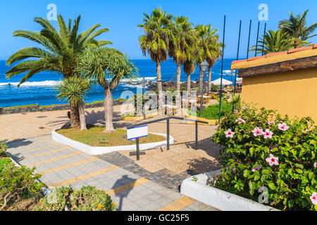
M 58 129 L 54 129 L 51 131 L 51 137 L 54 141 L 58 143 L 63 143 L 67 146 L 76 148 L 78 150 L 81 150 L 89 155 L 103 155 L 105 153 L 111 153 L 114 151 L 120 151 L 120 150 L 137 150 L 137 146 L 129 145 L 129 146 L 110 146 L 110 147 L 93 147 L 88 146 L 85 143 L 80 143 L 78 141 L 74 141 L 72 139 L 68 139 L 66 136 L 63 136 L 61 134 L 58 134 L 56 131 Z M 159 133 L 149 133 L 149 134 L 156 134 L 159 136 L 167 137 L 166 134 L 159 134 Z M 174 143 L 173 136 L 170 136 L 170 145 Z M 153 143 L 141 143 L 139 144 L 139 150 L 148 150 L 152 148 L 160 148 L 163 146 L 167 146 L 167 141 L 159 141 L 159 142 L 153 142 Z

